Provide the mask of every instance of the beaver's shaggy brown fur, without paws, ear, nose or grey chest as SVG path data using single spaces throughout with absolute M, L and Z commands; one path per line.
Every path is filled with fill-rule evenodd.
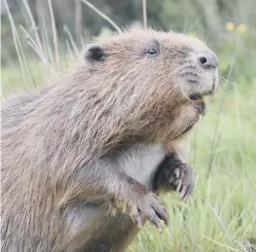
M 157 57 L 145 55 L 151 45 Z M 198 86 L 179 77 L 188 57 L 195 63 L 208 51 L 198 40 L 131 30 L 100 47 L 102 62 L 86 60 L 51 86 L 3 104 L 3 251 L 80 251 L 100 227 L 99 202 L 128 207 L 147 194 L 111 157 L 131 139 L 175 148 L 199 120 L 187 97 L 215 89 L 215 72 L 198 67 Z

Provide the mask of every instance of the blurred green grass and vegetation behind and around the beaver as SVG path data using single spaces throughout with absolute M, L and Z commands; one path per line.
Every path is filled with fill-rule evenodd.
M 82 0 L 1 0 L 2 98 L 43 85 L 94 36 L 115 28 Z M 142 1 L 93 0 L 119 27 L 143 26 Z M 128 251 L 256 251 L 256 1 L 148 0 L 148 26 L 201 38 L 220 89 L 187 149 L 198 183 L 165 196 L 171 226 L 150 225 Z

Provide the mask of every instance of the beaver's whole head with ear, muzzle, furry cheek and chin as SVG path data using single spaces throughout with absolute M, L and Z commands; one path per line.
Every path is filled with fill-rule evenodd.
M 203 96 L 218 86 L 216 55 L 200 40 L 173 32 L 132 29 L 89 46 L 85 59 L 105 110 L 100 114 L 129 132 L 171 137 L 174 127 L 190 128 L 204 112 Z M 181 114 L 184 120 L 169 128 Z

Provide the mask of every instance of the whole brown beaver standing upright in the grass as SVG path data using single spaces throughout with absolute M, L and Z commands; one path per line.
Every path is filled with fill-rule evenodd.
M 91 44 L 51 85 L 2 104 L 3 251 L 123 251 L 158 193 L 188 198 L 179 152 L 218 85 L 200 40 L 130 29 Z

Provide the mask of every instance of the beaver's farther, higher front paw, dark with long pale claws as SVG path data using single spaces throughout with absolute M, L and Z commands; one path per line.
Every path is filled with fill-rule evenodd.
M 186 200 L 195 186 L 195 171 L 189 163 L 180 163 L 170 168 L 168 182 L 179 198 Z

